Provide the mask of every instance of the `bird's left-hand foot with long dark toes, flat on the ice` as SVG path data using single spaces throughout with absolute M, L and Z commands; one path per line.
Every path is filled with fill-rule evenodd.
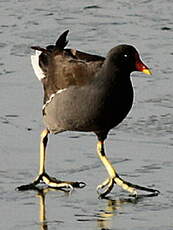
M 61 181 L 54 177 L 50 177 L 47 173 L 42 173 L 32 183 L 21 185 L 17 187 L 17 190 L 40 190 L 41 187 L 43 188 L 45 186 L 48 188 L 71 192 L 74 188 L 84 188 L 86 184 L 84 182 Z

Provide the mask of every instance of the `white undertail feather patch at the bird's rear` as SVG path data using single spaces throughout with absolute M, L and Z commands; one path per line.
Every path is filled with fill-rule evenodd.
M 44 72 L 39 66 L 39 56 L 42 52 L 36 50 L 34 55 L 31 55 L 31 64 L 34 69 L 35 75 L 38 77 L 38 79 L 41 81 L 41 79 L 45 78 Z

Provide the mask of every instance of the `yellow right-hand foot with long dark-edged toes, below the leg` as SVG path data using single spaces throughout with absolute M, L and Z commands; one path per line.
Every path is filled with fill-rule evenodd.
M 122 189 L 130 192 L 130 196 L 132 197 L 140 197 L 140 196 L 158 196 L 159 191 L 155 189 L 146 188 L 143 186 L 135 185 L 130 182 L 124 181 L 121 179 L 118 175 L 115 178 L 108 178 L 106 179 L 102 184 L 97 186 L 97 193 L 99 194 L 100 198 L 104 198 L 107 194 L 111 192 L 114 185 L 119 185 Z M 138 195 L 137 190 L 149 192 L 149 194 L 146 195 Z

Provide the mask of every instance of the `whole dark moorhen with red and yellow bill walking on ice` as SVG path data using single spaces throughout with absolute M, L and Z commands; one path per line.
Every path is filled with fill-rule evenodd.
M 18 190 L 34 189 L 39 183 L 49 188 L 73 190 L 84 182 L 63 181 L 46 172 L 46 147 L 49 134 L 64 131 L 93 132 L 97 137 L 97 154 L 105 166 L 108 178 L 98 185 L 100 197 L 106 197 L 114 185 L 132 196 L 138 190 L 154 195 L 159 191 L 132 184 L 122 179 L 105 152 L 105 140 L 111 129 L 120 124 L 131 110 L 134 98 L 130 74 L 140 71 L 151 75 L 137 49 L 128 44 L 113 47 L 106 57 L 66 48 L 69 30 L 64 31 L 54 45 L 32 46 L 31 63 L 42 82 L 43 123 L 40 135 L 40 166 L 33 182 Z

